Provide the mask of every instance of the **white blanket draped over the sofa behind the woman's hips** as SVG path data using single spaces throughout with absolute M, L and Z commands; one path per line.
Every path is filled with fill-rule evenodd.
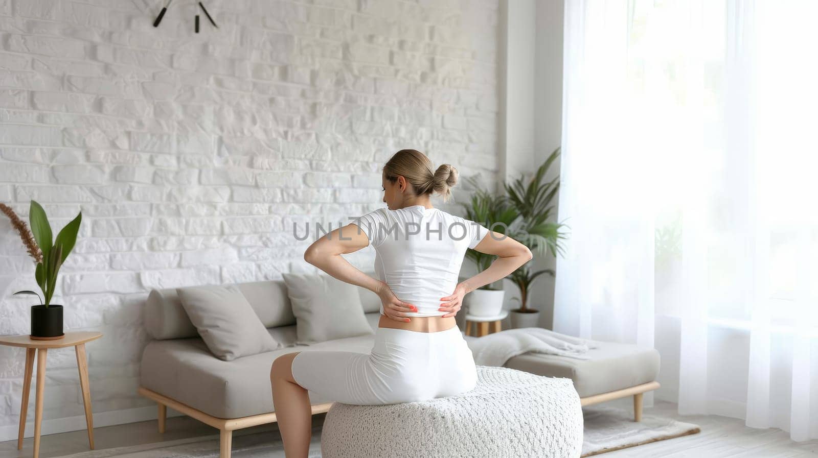
M 502 367 L 510 358 L 528 352 L 588 359 L 588 349 L 596 349 L 596 345 L 587 340 L 542 327 L 520 327 L 483 337 L 464 338 L 474 354 L 474 364 L 479 366 Z

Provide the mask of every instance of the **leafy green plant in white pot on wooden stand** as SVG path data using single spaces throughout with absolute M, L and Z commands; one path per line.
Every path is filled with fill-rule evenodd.
M 461 203 L 465 208 L 465 218 L 484 225 L 494 232 L 506 233 L 508 225 L 517 217 L 515 209 L 507 204 L 502 195 L 483 189 L 474 177 L 470 177 L 467 181 L 475 191 L 468 203 Z M 488 269 L 488 266 L 497 258 L 497 256 L 481 253 L 471 248 L 466 250 L 465 256 L 474 261 L 478 272 Z M 506 291 L 502 286 L 495 287 L 490 283 L 465 296 L 464 305 L 468 307 L 471 315 L 494 317 L 502 311 L 505 294 Z

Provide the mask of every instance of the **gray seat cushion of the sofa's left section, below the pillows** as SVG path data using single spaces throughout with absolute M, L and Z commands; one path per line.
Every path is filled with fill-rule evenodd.
M 380 313 L 367 313 L 374 331 Z M 295 336 L 295 326 L 277 327 L 281 336 Z M 236 358 L 227 362 L 213 358 L 200 337 L 151 340 L 142 353 L 140 385 L 218 418 L 240 418 L 275 411 L 270 390 L 270 367 L 281 354 L 296 351 L 344 350 L 369 354 L 375 337 L 356 336 L 309 346 L 282 341 L 285 348 Z M 331 402 L 308 391 L 312 404 Z

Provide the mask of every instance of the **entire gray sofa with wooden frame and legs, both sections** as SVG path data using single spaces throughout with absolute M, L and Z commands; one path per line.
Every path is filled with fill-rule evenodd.
M 295 317 L 283 280 L 236 283 L 236 287 L 267 331 L 286 345 L 284 348 L 223 361 L 210 353 L 182 308 L 175 288 L 151 291 L 143 309 L 146 331 L 152 340 L 142 353 L 139 394 L 157 402 L 161 433 L 167 407 L 219 429 L 222 458 L 230 456 L 232 431 L 276 421 L 270 386 L 273 360 L 281 354 L 319 349 L 368 354 L 380 318 L 378 296 L 361 289 L 372 334 L 295 345 Z M 591 350 L 591 360 L 521 354 L 511 358 L 506 367 L 542 376 L 569 377 L 582 405 L 632 395 L 639 420 L 641 394 L 658 388 L 658 353 L 634 345 L 599 344 L 599 349 Z M 313 414 L 329 410 L 330 399 L 312 391 L 308 394 Z

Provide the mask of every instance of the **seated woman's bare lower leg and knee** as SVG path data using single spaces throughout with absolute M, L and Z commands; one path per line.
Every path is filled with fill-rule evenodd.
M 293 378 L 293 358 L 299 353 L 282 354 L 272 362 L 270 369 L 272 402 L 287 458 L 307 458 L 312 439 L 309 394 Z

